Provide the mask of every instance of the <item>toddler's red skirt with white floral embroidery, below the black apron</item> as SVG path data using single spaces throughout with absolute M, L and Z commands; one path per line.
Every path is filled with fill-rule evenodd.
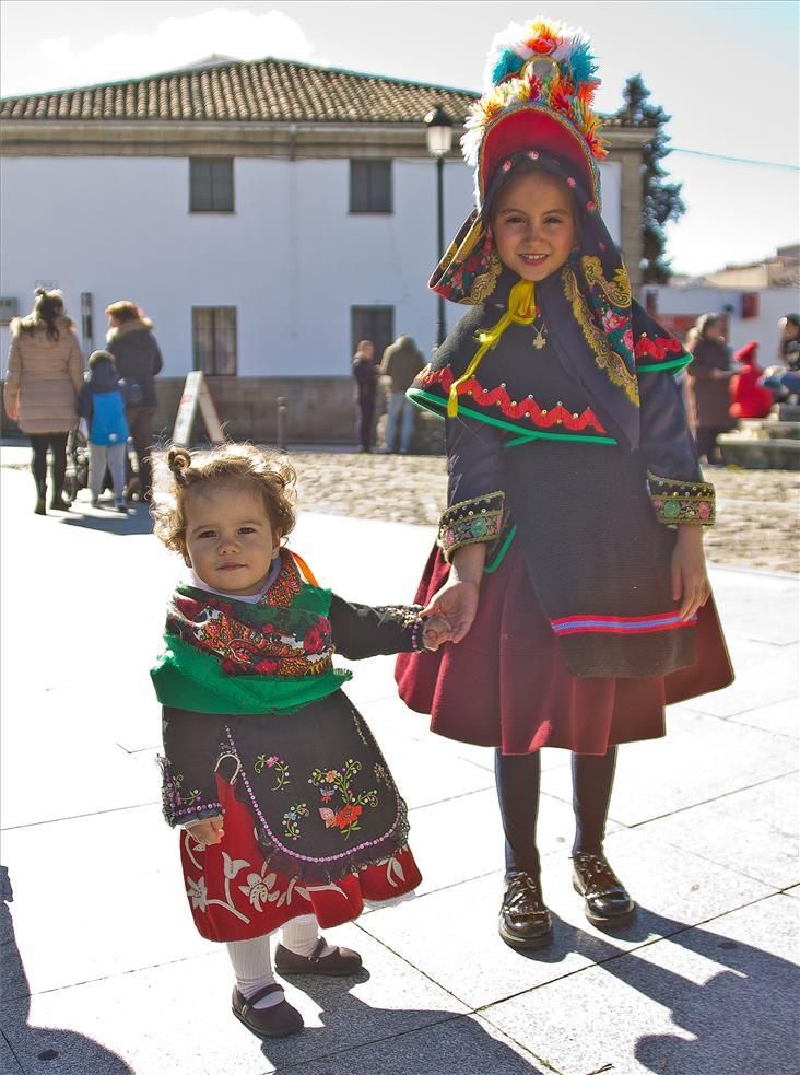
M 180 833 L 186 895 L 195 925 L 208 940 L 251 940 L 304 914 L 330 928 L 357 919 L 365 900 L 395 900 L 422 880 L 408 846 L 327 884 L 279 874 L 259 850 L 247 806 L 219 775 L 216 787 L 225 811 L 222 842 L 207 848 L 190 832 Z

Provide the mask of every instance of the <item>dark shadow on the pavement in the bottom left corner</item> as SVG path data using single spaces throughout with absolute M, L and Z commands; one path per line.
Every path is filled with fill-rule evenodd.
M 103 1075 L 133 1075 L 133 1070 L 116 1053 L 98 1042 L 57 1027 L 32 1027 L 28 1024 L 31 993 L 25 968 L 14 936 L 14 922 L 8 902 L 13 899 L 4 866 L 0 866 L 3 883 L 0 898 L 0 1029 L 11 1053 L 36 1056 L 42 1072 L 102 1072 Z M 19 1072 L 30 1071 L 17 1061 Z M 11 1073 L 9 1073 L 11 1075 Z

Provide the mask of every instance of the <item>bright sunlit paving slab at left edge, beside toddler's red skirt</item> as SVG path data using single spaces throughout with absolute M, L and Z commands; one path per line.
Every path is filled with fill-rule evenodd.
M 156 806 L 3 832 L 32 993 L 198 955 L 178 838 Z

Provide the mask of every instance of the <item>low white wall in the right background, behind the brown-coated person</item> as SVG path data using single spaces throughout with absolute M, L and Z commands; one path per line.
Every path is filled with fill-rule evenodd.
M 668 287 L 646 284 L 643 295 L 648 291 L 658 292 L 658 313 L 701 314 L 722 313 L 725 306 L 732 306 L 728 314 L 730 326 L 729 343 L 738 350 L 755 340 L 760 344 L 758 361 L 763 366 L 778 361 L 778 322 L 786 314 L 800 312 L 800 293 L 795 288 L 764 288 L 757 291 L 758 316 L 743 319 L 742 295 L 751 294 L 752 288 Z M 644 297 L 643 297 L 644 303 Z M 656 318 L 658 318 L 658 313 Z

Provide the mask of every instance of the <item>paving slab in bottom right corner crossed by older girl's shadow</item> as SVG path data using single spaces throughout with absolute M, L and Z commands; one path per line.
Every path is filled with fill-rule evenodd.
M 790 904 L 762 900 L 483 1016 L 558 1075 L 790 1075 L 800 1065 Z

